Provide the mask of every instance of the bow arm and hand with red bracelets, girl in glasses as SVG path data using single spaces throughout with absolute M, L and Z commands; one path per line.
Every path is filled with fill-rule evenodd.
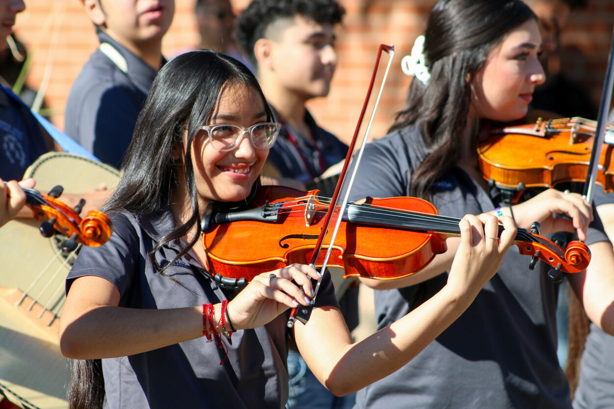
M 247 329 L 262 326 L 294 307 L 294 299 L 309 305 L 311 267 L 292 264 L 256 276 L 228 303 L 231 326 Z M 292 280 L 298 283 L 295 285 Z M 299 287 L 302 286 L 304 291 Z M 74 359 L 128 356 L 203 336 L 203 307 L 147 310 L 118 307 L 119 290 L 104 278 L 86 275 L 72 283 L 60 318 L 60 348 Z M 219 321 L 221 304 L 214 305 Z

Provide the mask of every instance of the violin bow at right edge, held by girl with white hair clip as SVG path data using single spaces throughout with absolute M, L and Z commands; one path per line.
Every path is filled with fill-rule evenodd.
M 588 165 L 588 174 L 586 174 L 586 182 L 584 185 L 583 197 L 589 203 L 593 203 L 593 189 L 597 180 L 597 169 L 599 167 L 599 158 L 601 156 L 601 147 L 605 139 L 605 128 L 607 126 L 608 110 L 610 110 L 610 102 L 612 101 L 612 86 L 614 86 L 614 32 L 612 34 L 612 42 L 610 43 L 610 56 L 608 57 L 608 67 L 605 72 L 604 90 L 601 95 L 599 105 L 599 115 L 597 116 L 597 128 L 595 130 L 595 139 L 593 140 L 593 151 L 591 152 L 591 161 Z

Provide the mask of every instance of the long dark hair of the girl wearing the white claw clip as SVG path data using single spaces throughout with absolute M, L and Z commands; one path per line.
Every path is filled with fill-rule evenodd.
M 425 85 L 413 78 L 406 109 L 390 131 L 415 124 L 429 154 L 411 178 L 410 194 L 429 199 L 433 182 L 459 160 L 471 83 L 488 53 L 512 29 L 536 18 L 520 0 L 439 0 L 424 34 L 430 72 Z

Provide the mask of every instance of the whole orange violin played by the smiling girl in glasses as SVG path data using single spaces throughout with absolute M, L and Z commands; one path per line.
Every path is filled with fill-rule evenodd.
M 263 186 L 253 207 L 212 214 L 203 232 L 203 247 L 214 279 L 226 288 L 240 289 L 260 273 L 309 262 L 330 205 L 317 192 Z M 344 277 L 407 277 L 447 250 L 445 240 L 460 235 L 458 224 L 459 219 L 437 215 L 437 209 L 422 199 L 368 197 L 346 208 L 327 265 L 343 268 Z M 591 253 L 584 243 L 570 242 L 562 250 L 564 239 L 550 241 L 538 235 L 538 229 L 538 224 L 534 232 L 518 229 L 515 239 L 520 253 L 532 256 L 530 269 L 541 259 L 554 267 L 550 277 L 559 279 L 561 272 L 575 273 L 588 266 Z M 499 226 L 499 234 L 502 231 Z M 254 243 L 254 234 L 257 245 L 244 245 Z M 322 265 L 322 258 L 323 254 L 316 266 Z

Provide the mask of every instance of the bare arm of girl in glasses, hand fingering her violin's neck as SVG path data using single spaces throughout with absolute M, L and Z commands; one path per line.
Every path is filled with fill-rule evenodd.
M 485 236 L 496 237 L 497 218 L 465 216 L 459 224 L 459 250 L 446 286 L 408 315 L 359 343 L 352 344 L 339 310 L 315 308 L 305 326 L 295 325 L 294 333 L 298 350 L 314 375 L 333 394 L 342 396 L 410 361 L 464 312 L 499 269 L 516 235 L 511 218 L 502 220 L 505 230 L 496 240 Z

